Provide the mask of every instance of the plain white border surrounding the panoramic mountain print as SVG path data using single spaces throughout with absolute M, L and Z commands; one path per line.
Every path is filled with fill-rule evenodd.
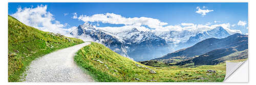
M 196 84 L 196 85 L 200 85 L 200 84 L 255 84 L 255 74 L 256 74 L 256 69 L 254 67 L 255 64 L 255 54 L 253 54 L 253 51 L 256 50 L 256 46 L 254 43 L 255 42 L 255 38 L 256 38 L 256 21 L 255 21 L 255 8 L 256 8 L 256 4 L 255 1 L 251 0 L 207 0 L 207 1 L 202 1 L 202 0 L 194 0 L 194 1 L 189 1 L 189 0 L 173 0 L 173 1 L 157 1 L 157 0 L 124 0 L 124 1 L 117 1 L 117 0 L 110 0 L 110 1 L 104 1 L 104 0 L 87 0 L 87 1 L 82 1 L 82 0 L 73 0 L 73 1 L 69 1 L 69 0 L 51 0 L 51 1 L 47 1 L 47 0 L 38 0 L 38 1 L 34 1 L 34 0 L 13 0 L 13 1 L 8 1 L 8 0 L 1 0 L 1 50 L 0 50 L 0 54 L 1 54 L 1 61 L 0 61 L 0 65 L 1 65 L 1 84 Z M 8 82 L 8 2 L 248 2 L 249 4 L 249 83 L 225 83 L 225 82 L 87 82 L 87 83 L 70 83 L 70 82 L 63 82 L 63 83 L 52 83 L 52 82 L 47 82 L 47 83 L 25 83 L 25 82 Z M 239 78 L 239 77 L 238 77 Z

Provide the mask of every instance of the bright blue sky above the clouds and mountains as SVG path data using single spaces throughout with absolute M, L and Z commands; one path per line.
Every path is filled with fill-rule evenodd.
M 246 29 L 248 27 L 247 3 L 9 3 L 8 14 L 15 14 L 17 8 L 36 8 L 40 5 L 46 5 L 46 11 L 53 15 L 54 20 L 51 22 L 59 21 L 59 24 L 69 24 L 63 26 L 66 29 L 84 23 L 82 19 L 73 18 L 74 13 L 78 17 L 113 13 L 125 18 L 148 17 L 167 23 L 162 26 L 181 23 L 203 25 L 229 23 L 231 30 L 240 30 L 243 34 L 248 33 Z M 197 7 L 212 11 L 202 15 L 202 13 L 196 13 L 199 10 Z M 239 21 L 243 23 L 239 25 Z M 98 22 L 99 27 L 124 25 L 123 23 Z M 148 25 L 144 26 L 148 27 Z

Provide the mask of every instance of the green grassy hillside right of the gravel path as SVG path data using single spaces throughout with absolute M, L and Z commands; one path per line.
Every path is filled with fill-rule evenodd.
M 74 61 L 96 81 L 220 82 L 224 80 L 226 70 L 225 63 L 194 68 L 145 66 L 93 42 L 80 49 Z M 216 73 L 207 72 L 207 70 L 215 70 Z

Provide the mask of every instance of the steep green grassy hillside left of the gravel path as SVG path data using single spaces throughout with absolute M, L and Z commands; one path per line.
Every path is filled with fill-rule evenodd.
M 21 81 L 34 59 L 76 44 L 82 40 L 43 32 L 8 16 L 8 81 Z

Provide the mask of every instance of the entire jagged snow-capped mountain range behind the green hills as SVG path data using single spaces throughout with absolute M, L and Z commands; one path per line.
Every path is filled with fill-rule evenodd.
M 154 31 L 139 31 L 136 28 L 113 32 L 99 29 L 90 23 L 79 25 L 70 34 L 84 41 L 101 43 L 135 61 L 158 58 L 208 38 L 225 38 L 230 35 L 221 26 L 208 31 L 167 31 L 156 35 Z

